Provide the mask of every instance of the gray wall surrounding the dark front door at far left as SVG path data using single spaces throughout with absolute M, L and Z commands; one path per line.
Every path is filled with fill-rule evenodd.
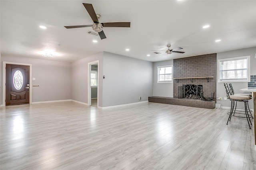
M 32 77 L 36 78 L 36 80 L 32 80 L 32 86 L 39 85 L 39 87 L 31 87 L 32 102 L 69 100 L 71 98 L 70 63 L 25 57 L 2 56 L 1 66 L 3 61 L 32 64 Z

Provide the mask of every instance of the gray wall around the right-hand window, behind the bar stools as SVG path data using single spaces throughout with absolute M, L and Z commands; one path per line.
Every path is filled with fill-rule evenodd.
M 256 47 L 239 49 L 239 50 L 234 50 L 234 51 L 226 51 L 223 53 L 217 53 L 217 60 L 250 55 L 251 56 L 250 57 L 250 74 L 256 75 L 255 54 L 256 54 Z M 217 74 L 218 74 L 218 70 L 217 70 Z M 218 81 L 218 79 L 217 79 L 217 81 Z M 246 93 L 246 92 L 240 92 L 239 89 L 248 87 L 248 82 L 232 82 L 232 86 L 234 88 L 235 93 Z M 231 104 L 230 101 L 224 100 L 224 97 L 226 97 L 226 91 L 224 88 L 224 84 L 217 82 L 216 88 L 217 88 L 217 96 L 216 97 L 222 97 L 222 100 L 221 101 L 217 100 L 217 103 L 221 104 L 224 107 L 230 107 L 230 104 Z M 242 106 L 240 105 L 239 107 L 242 107 Z M 253 108 L 252 100 L 249 101 L 249 107 Z

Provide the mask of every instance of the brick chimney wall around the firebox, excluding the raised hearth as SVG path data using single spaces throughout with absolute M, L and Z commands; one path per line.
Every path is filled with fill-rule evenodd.
M 193 82 L 190 79 L 179 79 L 179 82 L 174 80 L 174 98 L 178 98 L 178 86 L 182 86 L 183 84 L 197 84 L 203 85 L 204 97 L 211 97 L 212 92 L 214 92 L 214 98 L 216 99 L 216 53 L 174 59 L 173 67 L 174 78 L 214 77 L 209 78 L 209 82 L 207 82 L 206 78 L 194 78 L 192 79 Z

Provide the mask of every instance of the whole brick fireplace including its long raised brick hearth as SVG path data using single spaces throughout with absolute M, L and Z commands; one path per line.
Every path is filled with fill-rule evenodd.
M 216 53 L 174 59 L 173 67 L 173 77 L 178 78 L 173 80 L 174 98 L 152 96 L 148 98 L 148 101 L 214 109 L 216 103 Z M 194 88 L 194 92 L 188 90 L 190 92 L 184 94 L 183 88 L 188 84 L 193 84 L 187 88 Z M 198 91 L 203 91 L 205 98 L 211 98 L 212 92 L 215 96 L 212 101 L 202 101 L 198 97 Z

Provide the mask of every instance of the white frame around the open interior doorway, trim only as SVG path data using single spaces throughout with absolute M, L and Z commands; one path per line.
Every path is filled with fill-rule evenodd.
M 97 107 L 99 107 L 99 61 L 92 61 L 88 63 L 88 106 L 92 105 L 92 93 L 91 93 L 91 71 L 92 71 L 92 65 L 93 64 L 98 64 L 98 71 L 97 71 L 97 81 L 98 81 L 98 86 L 97 86 Z

